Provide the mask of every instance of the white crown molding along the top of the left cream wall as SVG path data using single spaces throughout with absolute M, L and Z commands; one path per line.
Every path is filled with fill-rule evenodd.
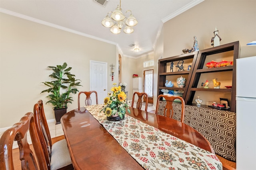
M 113 44 L 113 45 L 117 45 L 117 43 L 115 42 L 112 42 L 112 41 L 108 41 L 106 39 L 101 39 L 99 37 L 94 37 L 92 35 L 88 35 L 88 34 L 85 34 L 85 33 L 81 33 L 79 31 L 75 31 L 73 29 L 69 29 L 69 28 L 66 28 L 66 27 L 62 27 L 60 25 L 56 25 L 56 24 L 53 24 L 53 23 L 49 23 L 49 22 L 46 22 L 46 21 L 42 21 L 42 20 L 38 20 L 36 18 L 32 18 L 32 17 L 29 17 L 29 16 L 25 16 L 25 15 L 22 15 L 22 14 L 18 14 L 16 12 L 12 12 L 12 11 L 9 11 L 9 10 L 5 10 L 3 8 L 0 8 L 0 12 L 2 13 L 5 13 L 5 14 L 9 14 L 11 16 L 16 16 L 18 18 L 22 18 L 22 19 L 25 19 L 25 20 L 29 20 L 29 21 L 32 21 L 32 22 L 36 22 L 36 23 L 40 23 L 40 24 L 43 24 L 43 25 L 47 25 L 47 26 L 50 26 L 50 27 L 54 27 L 54 28 L 57 28 L 57 29 L 61 29 L 61 30 L 64 30 L 64 31 L 68 31 L 68 32 L 71 32 L 71 33 L 75 33 L 75 34 L 78 34 L 78 35 L 82 35 L 84 37 L 88 37 L 88 38 L 92 38 L 92 39 L 96 39 L 98 41 L 103 41 L 105 43 L 110 43 L 110 44 Z

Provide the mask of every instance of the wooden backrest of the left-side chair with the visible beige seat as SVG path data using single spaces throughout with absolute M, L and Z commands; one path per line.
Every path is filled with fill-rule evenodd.
M 47 120 L 44 114 L 44 106 L 42 100 L 38 100 L 38 102 L 34 105 L 34 117 L 36 123 L 36 131 L 38 133 L 40 144 L 44 151 L 44 158 L 46 160 L 48 169 L 50 170 L 52 139 L 47 124 Z

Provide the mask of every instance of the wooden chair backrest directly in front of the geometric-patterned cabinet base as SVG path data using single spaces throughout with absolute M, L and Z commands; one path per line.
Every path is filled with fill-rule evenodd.
M 160 94 L 157 97 L 156 114 L 158 113 L 160 98 L 164 98 L 166 100 L 166 106 L 164 108 L 164 114 L 166 113 L 166 116 L 167 117 L 171 117 L 172 119 L 173 119 L 173 115 L 174 115 L 172 103 L 174 102 L 175 99 L 179 99 L 181 101 L 180 121 L 183 123 L 184 122 L 184 113 L 185 113 L 185 102 L 184 102 L 184 99 L 182 97 L 180 97 L 180 96 L 167 96 L 167 95 Z

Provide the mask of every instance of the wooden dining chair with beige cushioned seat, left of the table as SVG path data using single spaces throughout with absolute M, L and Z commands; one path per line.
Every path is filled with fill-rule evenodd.
M 34 105 L 36 130 L 44 151 L 48 170 L 73 170 L 72 161 L 68 151 L 66 139 L 57 141 L 52 145 L 52 139 L 44 114 L 43 101 L 39 100 Z

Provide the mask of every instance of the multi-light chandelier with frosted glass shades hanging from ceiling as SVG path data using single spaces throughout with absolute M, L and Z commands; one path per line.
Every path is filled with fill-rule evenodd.
M 130 16 L 126 18 L 127 12 L 130 12 Z M 108 16 L 109 13 L 111 14 L 111 18 Z M 114 34 L 119 34 L 121 32 L 121 29 L 125 23 L 126 27 L 124 28 L 124 33 L 133 33 L 134 29 L 133 26 L 137 25 L 138 21 L 136 18 L 132 15 L 132 12 L 130 10 L 127 10 L 125 14 L 122 13 L 121 8 L 121 0 L 120 0 L 120 6 L 117 5 L 117 8 L 114 10 L 114 12 L 108 12 L 107 16 L 102 20 L 102 25 L 104 27 L 110 28 L 110 32 Z M 115 24 L 114 22 L 115 21 Z

